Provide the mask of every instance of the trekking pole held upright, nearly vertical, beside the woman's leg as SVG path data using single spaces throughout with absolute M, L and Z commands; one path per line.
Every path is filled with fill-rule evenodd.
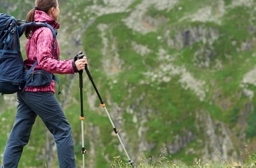
M 77 58 L 81 59 L 84 57 L 84 54 L 80 52 L 77 54 Z M 83 106 L 83 70 L 78 71 L 79 72 L 79 87 L 80 87 L 80 103 L 81 103 L 81 115 L 79 116 L 79 119 L 81 120 L 81 126 L 82 126 L 82 155 L 83 155 L 83 168 L 85 167 L 85 154 L 86 149 L 84 148 L 84 106 Z

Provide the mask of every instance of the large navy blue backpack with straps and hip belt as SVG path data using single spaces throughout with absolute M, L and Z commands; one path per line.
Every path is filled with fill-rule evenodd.
M 59 84 L 59 80 L 55 75 L 42 70 L 38 71 L 42 75 L 34 78 L 32 70 L 37 65 L 37 60 L 29 70 L 24 65 L 20 52 L 20 36 L 22 36 L 27 26 L 50 28 L 51 32 L 53 32 L 53 49 L 55 47 L 57 32 L 51 25 L 42 22 L 24 22 L 16 20 L 11 15 L 0 13 L 0 93 L 2 95 L 25 90 L 28 86 L 36 86 L 28 84 L 28 81 L 33 81 L 33 79 L 37 84 L 39 83 L 39 86 L 42 86 L 40 83 L 47 81 L 47 79 L 46 85 L 49 82 L 51 83 L 51 79 L 54 79 Z

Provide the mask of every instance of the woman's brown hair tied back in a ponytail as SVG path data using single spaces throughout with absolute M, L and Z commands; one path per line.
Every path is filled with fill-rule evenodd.
M 57 0 L 35 0 L 34 4 L 35 4 L 35 7 L 28 12 L 28 15 L 26 17 L 26 22 L 34 22 L 34 13 L 36 10 L 40 10 L 40 11 L 44 11 L 45 13 L 48 13 L 51 7 L 57 7 Z M 26 38 L 30 39 L 33 31 L 34 31 L 33 28 L 27 27 L 25 29 Z

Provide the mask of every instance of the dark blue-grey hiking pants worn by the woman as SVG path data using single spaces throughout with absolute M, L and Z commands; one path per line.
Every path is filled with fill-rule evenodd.
M 18 167 L 23 147 L 28 144 L 37 115 L 54 136 L 59 167 L 75 167 L 71 127 L 55 95 L 51 92 L 23 91 L 18 92 L 17 97 L 15 122 L 3 153 L 4 167 Z

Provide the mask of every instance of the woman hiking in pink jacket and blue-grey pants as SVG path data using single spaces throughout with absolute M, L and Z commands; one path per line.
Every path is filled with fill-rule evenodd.
M 57 0 L 36 0 L 36 7 L 29 11 L 27 22 L 46 22 L 55 30 L 59 28 L 59 3 Z M 59 60 L 59 46 L 49 28 L 26 28 L 26 54 L 24 61 L 30 68 L 38 60 L 34 70 L 44 70 L 51 74 L 74 74 L 88 64 L 86 57 L 79 60 Z M 13 128 L 3 154 L 4 167 L 18 167 L 23 147 L 28 144 L 32 126 L 39 116 L 50 130 L 57 144 L 59 167 L 75 167 L 71 127 L 59 102 L 55 98 L 55 82 L 44 87 L 27 87 L 18 92 L 18 108 Z

